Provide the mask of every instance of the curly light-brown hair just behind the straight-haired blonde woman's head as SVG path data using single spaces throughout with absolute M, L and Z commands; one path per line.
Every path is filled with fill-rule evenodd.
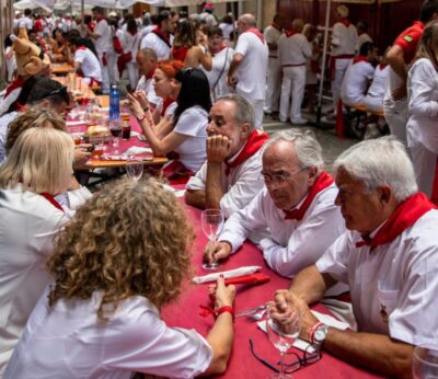
M 44 106 L 35 105 L 19 114 L 8 127 L 8 135 L 4 142 L 4 151 L 8 154 L 14 146 L 16 138 L 33 127 L 51 126 L 54 129 L 66 131 L 66 120 L 56 112 Z

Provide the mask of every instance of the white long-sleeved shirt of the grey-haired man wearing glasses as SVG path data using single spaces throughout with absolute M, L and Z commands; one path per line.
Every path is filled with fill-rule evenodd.
M 285 213 L 275 206 L 263 187 L 245 208 L 231 215 L 218 240 L 229 241 L 234 253 L 247 237 L 268 229 L 269 238 L 260 241 L 266 263 L 278 274 L 293 277 L 314 264 L 344 233 L 344 219 L 334 205 L 336 195 L 337 188 L 332 184 L 315 196 L 300 221 L 285 220 Z

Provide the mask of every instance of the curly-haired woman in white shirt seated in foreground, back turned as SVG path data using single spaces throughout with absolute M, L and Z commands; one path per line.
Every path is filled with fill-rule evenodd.
M 57 238 L 48 262 L 55 283 L 35 307 L 4 378 L 223 371 L 233 341 L 233 286 L 218 280 L 218 318 L 206 340 L 160 318 L 188 278 L 192 240 L 184 210 L 155 180 L 106 186 Z

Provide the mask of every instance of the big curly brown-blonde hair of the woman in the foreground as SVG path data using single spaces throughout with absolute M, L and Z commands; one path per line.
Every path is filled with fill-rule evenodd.
M 191 274 L 193 239 L 181 205 L 157 180 L 107 185 L 56 239 L 47 263 L 55 277 L 49 306 L 102 291 L 102 321 L 132 296 L 160 309 L 178 297 Z

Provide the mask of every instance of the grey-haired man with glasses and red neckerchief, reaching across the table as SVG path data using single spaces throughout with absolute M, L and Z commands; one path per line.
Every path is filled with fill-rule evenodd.
M 224 259 L 246 238 L 264 233 L 258 248 L 268 266 L 293 277 L 316 262 L 326 246 L 344 233 L 345 225 L 334 205 L 337 188 L 322 170 L 321 146 L 313 133 L 300 129 L 279 131 L 263 152 L 265 186 L 241 211 L 224 223 L 205 260 Z

